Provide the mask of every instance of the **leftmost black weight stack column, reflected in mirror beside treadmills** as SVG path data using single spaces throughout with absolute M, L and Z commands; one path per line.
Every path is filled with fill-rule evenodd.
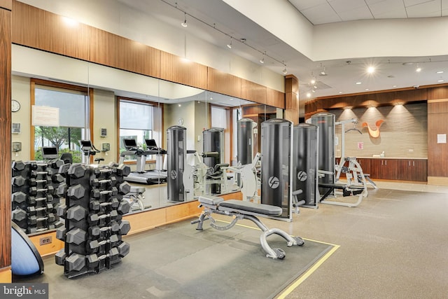
M 183 171 L 187 156 L 187 128 L 174 125 L 167 129 L 167 183 L 168 201 L 185 200 Z

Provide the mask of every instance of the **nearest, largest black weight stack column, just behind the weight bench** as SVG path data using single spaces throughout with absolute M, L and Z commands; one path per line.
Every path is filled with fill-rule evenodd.
M 291 215 L 291 148 L 293 125 L 274 118 L 261 123 L 261 203 L 281 207 Z

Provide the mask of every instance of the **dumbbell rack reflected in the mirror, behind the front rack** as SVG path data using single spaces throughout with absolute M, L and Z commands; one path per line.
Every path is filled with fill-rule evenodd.
M 13 162 L 11 218 L 27 234 L 63 225 L 55 211 L 62 197 L 65 169 L 62 160 Z

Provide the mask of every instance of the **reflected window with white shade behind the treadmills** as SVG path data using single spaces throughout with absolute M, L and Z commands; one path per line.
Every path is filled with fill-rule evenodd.
M 158 106 L 153 102 L 119 98 L 120 101 L 120 153 L 126 151 L 123 139 L 135 139 L 139 148 L 146 149 L 145 139 L 158 140 L 158 132 L 154 132 L 158 119 Z M 160 144 L 158 144 L 160 146 Z M 153 157 L 148 156 L 146 159 Z M 126 155 L 125 160 L 136 160 L 134 155 Z

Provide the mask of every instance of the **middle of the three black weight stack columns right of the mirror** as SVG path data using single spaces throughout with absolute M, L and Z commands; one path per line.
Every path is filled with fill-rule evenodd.
M 297 201 L 303 207 L 317 207 L 318 127 L 300 123 L 293 128 L 293 191 L 302 190 Z

